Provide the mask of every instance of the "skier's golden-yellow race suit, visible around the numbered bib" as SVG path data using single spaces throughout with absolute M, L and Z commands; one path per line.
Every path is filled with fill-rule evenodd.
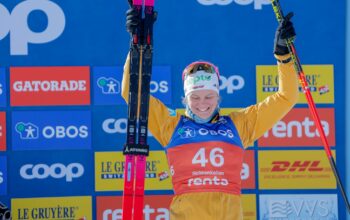
M 276 56 L 276 58 L 279 60 L 285 60 L 289 58 L 289 55 Z M 124 66 L 122 82 L 122 96 L 126 101 L 128 100 L 129 92 L 129 70 L 130 66 L 128 56 Z M 278 74 L 278 92 L 270 95 L 265 100 L 255 105 L 249 106 L 240 111 L 232 112 L 228 115 L 229 119 L 232 120 L 236 131 L 238 132 L 243 148 L 247 148 L 249 144 L 253 143 L 266 131 L 272 128 L 277 121 L 282 119 L 282 117 L 288 113 L 288 111 L 295 105 L 298 100 L 298 79 L 293 66 L 293 62 L 285 64 L 278 63 Z M 168 108 L 160 100 L 153 96 L 150 97 L 148 127 L 153 136 L 163 147 L 169 145 L 174 135 L 175 129 L 177 129 L 178 124 L 183 119 L 184 117 L 178 113 L 175 116 L 169 114 Z M 198 159 L 204 154 L 196 155 L 198 157 L 195 159 Z M 243 156 L 240 155 L 239 157 Z M 181 164 L 181 156 L 175 159 L 180 160 L 179 164 Z M 242 158 L 238 159 L 242 160 Z M 239 172 L 239 170 L 237 172 Z M 217 180 L 215 181 L 218 182 Z M 237 185 L 239 186 L 240 190 L 240 182 L 237 182 Z M 205 187 L 203 189 L 190 192 L 185 191 L 179 194 L 177 194 L 175 190 L 175 196 L 170 205 L 170 219 L 243 219 L 240 193 L 213 190 L 206 191 Z

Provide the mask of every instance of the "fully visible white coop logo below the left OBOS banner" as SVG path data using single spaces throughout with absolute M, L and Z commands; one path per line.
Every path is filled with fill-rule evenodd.
M 47 164 L 25 164 L 20 169 L 23 179 L 65 179 L 72 182 L 84 174 L 84 167 L 80 163 L 70 163 L 67 166 L 61 163 Z

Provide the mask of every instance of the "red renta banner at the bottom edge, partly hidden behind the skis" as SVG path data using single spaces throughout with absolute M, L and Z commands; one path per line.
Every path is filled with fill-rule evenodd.
M 169 220 L 169 206 L 172 195 L 145 196 L 144 219 L 145 220 Z M 96 215 L 97 220 L 122 219 L 122 196 L 97 196 Z

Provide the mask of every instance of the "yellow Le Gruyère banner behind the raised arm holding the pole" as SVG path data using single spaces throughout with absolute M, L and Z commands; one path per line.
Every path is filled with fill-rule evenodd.
M 333 65 L 303 65 L 303 70 L 315 103 L 334 103 Z M 277 66 L 256 66 L 257 101 L 278 91 Z M 299 83 L 299 86 L 301 84 Z M 299 87 L 298 103 L 307 103 L 305 94 Z

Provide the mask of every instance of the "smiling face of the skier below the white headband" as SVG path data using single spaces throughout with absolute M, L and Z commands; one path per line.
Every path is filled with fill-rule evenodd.
M 208 89 L 193 91 L 186 99 L 193 114 L 202 119 L 209 118 L 219 104 L 218 94 Z

